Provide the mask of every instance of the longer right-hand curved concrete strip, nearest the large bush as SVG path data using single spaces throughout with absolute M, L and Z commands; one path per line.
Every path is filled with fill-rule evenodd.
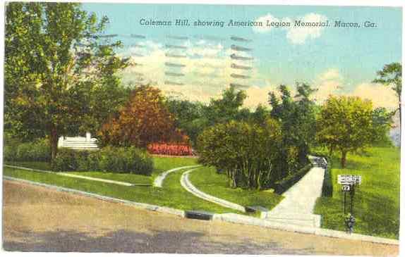
M 245 207 L 238 205 L 237 203 L 231 203 L 230 201 L 226 201 L 224 199 L 219 199 L 210 194 L 206 194 L 206 193 L 198 190 L 196 187 L 194 187 L 193 184 L 191 184 L 190 180 L 188 179 L 188 175 L 193 170 L 197 170 L 197 169 L 195 168 L 195 169 L 186 171 L 185 173 L 183 173 L 183 175 L 181 175 L 181 179 L 180 179 L 181 186 L 184 187 L 188 192 L 190 192 L 191 194 L 194 194 L 195 196 L 197 196 L 201 199 L 204 199 L 205 201 L 217 203 L 220 206 L 224 206 L 226 208 L 231 208 L 231 209 L 234 209 L 237 211 L 241 211 L 243 213 L 246 212 Z

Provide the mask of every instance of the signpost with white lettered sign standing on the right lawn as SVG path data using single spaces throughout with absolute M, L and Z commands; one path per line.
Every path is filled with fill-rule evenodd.
M 349 233 L 353 232 L 354 216 L 353 216 L 353 200 L 355 187 L 361 184 L 361 175 L 337 175 L 337 183 L 341 184 L 341 191 L 344 192 L 344 217 L 346 227 Z M 350 194 L 350 212 L 346 215 L 346 192 Z

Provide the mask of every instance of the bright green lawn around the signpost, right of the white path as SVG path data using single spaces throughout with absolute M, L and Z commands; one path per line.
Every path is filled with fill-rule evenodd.
M 343 192 L 337 175 L 361 175 L 362 183 L 354 196 L 354 232 L 398 239 L 400 149 L 374 147 L 363 156 L 349 155 L 344 169 L 339 156 L 332 162 L 333 197 L 320 197 L 315 206 L 315 213 L 322 215 L 322 227 L 345 230 Z

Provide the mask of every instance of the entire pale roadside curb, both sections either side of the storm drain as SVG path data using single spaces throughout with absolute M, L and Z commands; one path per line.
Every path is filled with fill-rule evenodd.
M 33 182 L 30 180 L 23 180 L 23 179 L 19 179 L 16 177 L 3 176 L 3 178 L 4 178 L 4 180 L 24 182 L 27 184 L 33 184 L 33 185 L 40 186 L 40 187 L 47 187 L 49 189 L 54 189 L 59 192 L 71 192 L 73 194 L 89 196 L 89 197 L 92 197 L 95 199 L 100 199 L 103 201 L 123 203 L 128 206 L 135 206 L 135 207 L 142 208 L 142 209 L 149 210 L 149 211 L 168 213 L 168 214 L 173 214 L 173 215 L 177 215 L 177 216 L 186 218 L 185 211 L 175 209 L 175 208 L 156 206 L 156 205 L 152 205 L 149 203 L 137 203 L 134 201 L 128 201 L 128 200 L 123 200 L 123 199 L 116 199 L 116 198 L 109 197 L 109 196 L 102 196 L 99 194 L 83 192 L 83 191 L 76 190 L 76 189 L 68 189 L 66 187 L 58 187 L 58 186 L 44 184 L 44 183 L 40 183 L 40 182 Z M 271 228 L 274 230 L 282 230 L 282 231 L 288 231 L 288 232 L 315 234 L 315 235 L 318 235 L 321 237 L 334 237 L 334 238 L 340 238 L 340 239 L 359 240 L 362 242 L 372 242 L 372 243 L 377 243 L 377 244 L 399 245 L 399 240 L 396 240 L 396 239 L 373 237 L 373 236 L 368 236 L 368 235 L 364 235 L 364 234 L 354 234 L 354 233 L 346 234 L 345 232 L 342 232 L 342 231 L 327 230 L 327 229 L 315 228 L 315 227 L 302 227 L 302 226 L 298 226 L 298 225 L 286 225 L 286 224 L 282 224 L 282 223 L 272 222 L 270 220 L 262 220 L 260 218 L 249 217 L 246 215 L 241 215 L 241 214 L 236 214 L 236 213 L 223 213 L 223 214 L 215 213 L 212 217 L 212 220 L 219 220 L 222 222 L 231 222 L 231 223 L 242 224 L 242 225 L 254 225 L 254 226 L 258 226 L 258 227 L 268 227 L 268 228 Z

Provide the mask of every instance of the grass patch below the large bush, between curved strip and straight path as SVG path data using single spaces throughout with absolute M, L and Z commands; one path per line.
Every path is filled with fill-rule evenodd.
M 262 206 L 269 210 L 283 199 L 283 196 L 258 190 L 232 189 L 226 175 L 218 174 L 214 168 L 200 168 L 189 175 L 191 183 L 201 191 L 241 206 Z

